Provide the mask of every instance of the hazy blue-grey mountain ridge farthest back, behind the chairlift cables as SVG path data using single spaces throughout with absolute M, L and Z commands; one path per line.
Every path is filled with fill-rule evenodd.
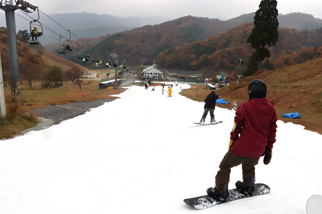
M 16 31 L 18 30 L 30 30 L 30 24 L 27 20 L 37 19 L 38 15 L 36 12 L 29 13 L 28 15 L 32 18 L 26 16 L 25 14 L 17 11 L 15 12 L 16 21 Z M 27 20 L 21 18 L 25 17 Z M 39 13 L 39 22 L 47 26 L 51 30 L 58 32 L 62 36 L 69 38 L 69 34 L 61 26 L 53 22 L 50 18 Z M 48 14 L 53 20 L 61 24 L 67 30 L 70 30 L 78 37 L 83 38 L 96 38 L 99 36 L 104 36 L 106 34 L 113 34 L 115 32 L 126 31 L 136 27 L 141 27 L 145 25 L 160 24 L 162 22 L 169 21 L 169 18 L 163 17 L 118 17 L 109 14 L 96 14 L 96 13 L 54 13 Z M 0 27 L 6 27 L 5 13 L 0 13 Z M 39 27 L 38 27 L 39 29 Z M 76 39 L 72 37 L 71 39 Z M 49 44 L 51 42 L 58 42 L 59 36 L 44 30 L 44 36 L 41 38 L 42 44 Z

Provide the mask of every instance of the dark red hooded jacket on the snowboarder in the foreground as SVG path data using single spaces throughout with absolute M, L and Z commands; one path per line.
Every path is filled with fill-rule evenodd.
M 230 133 L 230 138 L 235 140 L 232 152 L 242 157 L 260 158 L 266 145 L 272 148 L 276 141 L 277 120 L 274 103 L 267 98 L 240 104 Z

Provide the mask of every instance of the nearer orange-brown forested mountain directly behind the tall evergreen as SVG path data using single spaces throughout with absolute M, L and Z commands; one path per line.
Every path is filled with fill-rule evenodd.
M 198 70 L 210 67 L 212 71 L 230 73 L 236 70 L 239 58 L 247 62 L 254 51 L 246 41 L 253 27 L 253 22 L 246 23 L 203 41 L 167 49 L 158 55 L 156 63 L 166 68 Z M 269 48 L 271 57 L 264 63 L 264 68 L 279 68 L 321 56 L 322 28 L 314 31 L 279 28 L 278 31 L 279 40 Z M 212 77 L 213 74 L 206 75 Z

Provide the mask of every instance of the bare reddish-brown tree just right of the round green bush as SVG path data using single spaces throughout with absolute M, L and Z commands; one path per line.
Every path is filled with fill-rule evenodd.
M 79 85 L 80 89 L 81 85 L 88 85 L 92 82 L 86 75 L 85 69 L 76 66 L 73 66 L 69 70 L 67 70 L 65 72 L 65 77 L 75 85 Z

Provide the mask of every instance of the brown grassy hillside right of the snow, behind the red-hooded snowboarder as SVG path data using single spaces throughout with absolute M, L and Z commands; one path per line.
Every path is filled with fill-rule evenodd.
M 262 79 L 267 84 L 267 98 L 275 103 L 279 120 L 301 124 L 308 130 L 322 134 L 322 58 L 305 63 L 257 72 L 242 79 L 242 85 L 237 83 L 219 89 L 219 94 L 231 104 L 218 105 L 232 109 L 240 103 L 248 101 L 247 87 L 253 79 Z M 202 85 L 204 87 L 204 85 Z M 201 88 L 203 88 L 201 87 Z M 210 93 L 209 90 L 191 88 L 183 95 L 203 102 Z M 284 113 L 298 112 L 301 119 L 284 118 Z

